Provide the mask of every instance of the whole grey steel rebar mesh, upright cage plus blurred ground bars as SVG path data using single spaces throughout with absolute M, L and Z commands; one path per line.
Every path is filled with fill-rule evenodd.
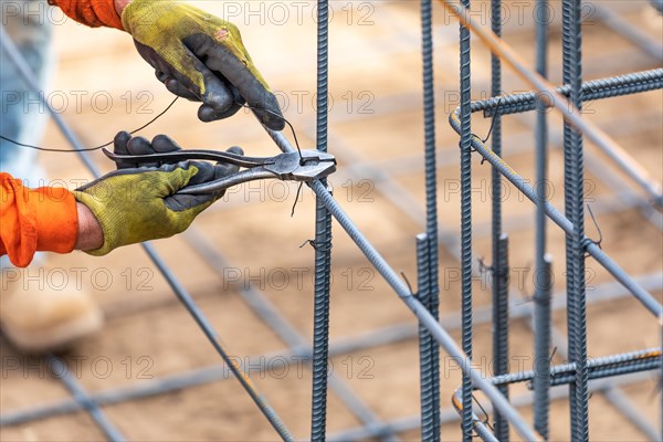
M 502 61 L 506 60 L 514 67 L 508 56 L 505 56 L 505 49 L 508 46 L 496 39 L 501 34 L 499 21 L 492 23 L 491 33 L 476 23 L 472 24 L 472 17 L 465 8 L 470 7 L 470 1 L 465 0 L 462 4 L 453 1 L 442 1 L 460 19 L 460 56 L 461 72 L 459 74 L 461 106 L 450 115 L 452 127 L 460 135 L 460 156 L 461 156 L 461 180 L 462 180 L 462 229 L 461 229 L 461 250 L 456 254 L 462 263 L 463 272 L 463 294 L 462 294 L 462 317 L 459 320 L 455 315 L 451 317 L 438 317 L 438 292 L 439 292 L 439 261 L 438 244 L 442 244 L 449 250 L 453 248 L 445 242 L 443 235 L 438 234 L 436 219 L 436 193 L 438 179 L 435 170 L 438 159 L 435 157 L 435 102 L 433 99 L 433 75 L 432 75 L 432 40 L 431 40 L 431 1 L 422 0 L 422 35 L 423 35 L 423 65 L 424 65 L 424 110 L 425 110 L 425 192 L 427 192 L 427 217 L 422 228 L 425 233 L 417 238 L 418 241 L 418 272 L 419 291 L 412 293 L 412 290 L 402 281 L 399 274 L 387 263 L 377 249 L 359 231 L 347 213 L 340 208 L 338 202 L 332 196 L 325 182 L 315 181 L 311 188 L 317 196 L 316 206 L 316 240 L 315 260 L 316 260 L 316 281 L 315 281 L 315 330 L 313 348 L 309 349 L 305 339 L 282 318 L 277 311 L 273 308 L 270 302 L 259 291 L 248 290 L 242 296 L 249 305 L 257 313 L 264 323 L 276 332 L 278 336 L 287 343 L 288 348 L 282 354 L 291 352 L 298 355 L 313 355 L 313 422 L 312 440 L 325 440 L 326 438 L 326 409 L 327 409 L 327 388 L 334 389 L 341 397 L 345 406 L 359 418 L 361 428 L 348 430 L 345 433 L 332 434 L 330 440 L 356 440 L 361 438 L 381 438 L 393 440 L 399 432 L 408 429 L 414 429 L 421 425 L 422 439 L 439 440 L 440 425 L 457 419 L 455 411 L 461 414 L 463 425 L 463 439 L 472 440 L 478 435 L 483 440 L 508 440 L 509 425 L 519 433 L 524 440 L 547 440 L 548 434 L 548 407 L 551 400 L 567 397 L 571 403 L 571 439 L 589 439 L 589 414 L 588 401 L 590 391 L 611 391 L 612 400 L 619 396 L 620 382 L 628 382 L 636 376 L 642 376 L 643 371 L 659 370 L 662 367 L 662 354 L 660 348 L 651 348 L 642 351 L 629 354 L 609 355 L 596 359 L 587 359 L 587 327 L 586 308 L 587 303 L 598 302 L 597 299 L 587 299 L 585 293 L 585 260 L 586 254 L 593 256 L 604 269 L 617 280 L 617 283 L 606 285 L 601 293 L 604 299 L 612 299 L 617 296 L 634 296 L 644 307 L 651 312 L 659 320 L 662 316 L 662 308 L 659 301 L 651 295 L 655 291 L 661 291 L 660 272 L 651 277 L 631 276 L 603 252 L 599 244 L 589 240 L 585 235 L 583 220 L 585 206 L 582 202 L 582 178 L 583 178 L 583 152 L 582 136 L 596 136 L 592 139 L 602 140 L 591 126 L 578 125 L 577 115 L 570 118 L 568 115 L 565 127 L 564 155 L 566 158 L 567 176 L 565 179 L 566 215 L 562 215 L 552 204 L 545 201 L 541 193 L 529 186 L 514 169 L 511 168 L 501 157 L 503 149 L 508 148 L 503 144 L 501 131 L 501 117 L 511 114 L 522 114 L 529 110 L 537 110 L 539 116 L 535 130 L 537 137 L 537 180 L 540 182 L 546 179 L 546 156 L 549 150 L 547 146 L 547 123 L 545 120 L 545 107 L 559 106 L 555 99 L 550 99 L 549 90 L 539 87 L 541 83 L 533 82 L 535 90 L 530 93 L 502 96 Z M 498 11 L 501 1 L 493 0 L 493 10 Z M 565 1 L 565 84 L 557 88 L 559 96 L 567 96 L 572 103 L 573 109 L 579 109 L 586 99 L 608 98 L 619 95 L 631 95 L 645 91 L 660 90 L 663 87 L 663 70 L 653 70 L 645 72 L 634 72 L 625 75 L 601 78 L 598 81 L 582 82 L 581 78 L 581 51 L 580 51 L 580 1 Z M 327 82 L 328 82 L 328 29 L 326 11 L 328 3 L 320 0 L 318 4 L 318 119 L 317 119 L 317 148 L 327 149 Z M 608 17 L 608 15 L 604 15 Z M 540 23 L 539 23 L 540 24 Z M 471 97 L 471 67 L 470 50 L 471 31 L 480 36 L 486 36 L 484 40 L 493 51 L 493 75 L 492 75 L 492 97 L 484 101 L 472 102 Z M 2 31 L 3 32 L 3 31 Z M 546 76 L 545 54 L 548 44 L 548 36 L 545 29 L 537 31 L 537 44 L 539 62 L 537 63 L 538 74 Z M 21 65 L 20 54 L 13 48 L 9 38 L 2 33 L 2 50 L 7 51 L 18 65 Z M 502 52 L 499 51 L 502 50 Z M 525 70 L 525 77 L 534 70 L 523 69 L 515 65 L 516 70 Z M 568 72 L 567 72 L 568 71 Z M 36 88 L 36 84 L 31 80 L 31 73 L 23 69 L 31 87 Z M 537 90 L 538 88 L 538 90 Z M 565 104 L 566 105 L 566 104 Z M 48 103 L 46 103 L 48 106 Z M 495 118 L 493 122 L 492 148 L 485 141 L 478 139 L 471 129 L 472 113 L 483 110 L 485 117 Z M 80 148 L 74 133 L 62 120 L 57 113 L 52 113 L 53 118 L 60 126 L 65 137 L 72 146 Z M 293 151 L 293 147 L 281 133 L 269 130 L 275 144 L 284 151 Z M 610 145 L 610 144 L 608 144 Z M 611 145 L 610 145 L 611 146 Z M 610 147 L 609 146 L 609 147 Z M 333 149 L 332 149 L 332 152 Z M 522 306 L 517 303 L 509 303 L 507 297 L 508 280 L 505 276 L 508 270 L 508 248 L 507 236 L 503 232 L 502 208 L 498 202 L 493 204 L 493 220 L 490 227 L 490 233 L 493 238 L 494 264 L 491 269 L 496 277 L 495 292 L 493 296 L 493 306 L 488 308 L 477 308 L 472 304 L 472 277 L 476 272 L 475 260 L 472 253 L 473 223 L 472 223 L 472 158 L 474 154 L 481 155 L 492 166 L 493 186 L 498 187 L 498 182 L 504 177 L 513 182 L 532 202 L 537 206 L 537 246 L 536 260 L 537 271 L 549 274 L 550 260 L 546 256 L 545 243 L 545 217 L 550 218 L 567 234 L 567 272 L 569 276 L 568 299 L 564 301 L 564 293 L 554 295 L 548 280 L 544 278 L 540 286 L 537 286 L 535 293 L 535 306 Z M 85 154 L 81 158 L 94 176 L 99 172 L 95 165 Z M 619 154 L 611 156 L 617 162 L 622 161 L 622 166 L 628 169 L 628 173 L 635 182 L 640 183 L 650 197 L 652 206 L 661 204 L 660 186 L 653 182 L 650 177 L 639 176 L 638 168 L 632 167 L 630 158 L 622 158 Z M 387 180 L 390 178 L 386 178 Z M 364 339 L 350 339 L 348 343 L 328 344 L 329 340 L 329 265 L 332 259 L 330 227 L 332 217 L 334 217 L 349 238 L 357 244 L 359 250 L 375 265 L 380 275 L 391 286 L 393 292 L 403 301 L 419 320 L 419 329 L 398 328 L 391 330 L 379 330 L 375 335 L 367 336 Z M 474 233 L 476 234 L 476 233 Z M 221 265 L 223 256 L 213 248 L 206 245 L 204 241 L 197 239 L 196 230 L 187 233 L 187 238 L 197 251 L 206 255 L 207 259 Z M 200 308 L 187 293 L 186 288 L 178 282 L 172 272 L 159 257 L 154 248 L 149 244 L 144 246 L 155 265 L 164 274 L 170 284 L 176 296 L 196 319 L 199 327 L 206 334 L 210 343 L 219 355 L 231 367 L 236 379 L 242 383 L 248 393 L 252 397 L 256 406 L 263 411 L 263 414 L 272 423 L 277 434 L 283 440 L 293 440 L 293 435 L 281 421 L 275 410 L 273 410 L 255 389 L 249 377 L 242 371 L 242 368 L 235 365 L 229 357 L 225 346 L 220 341 L 218 335 L 202 315 Z M 537 357 L 549 361 L 549 348 L 555 343 L 555 334 L 550 335 L 550 315 L 556 309 L 567 308 L 569 317 L 568 336 L 568 357 L 570 364 L 552 365 L 545 364 L 543 369 L 507 372 L 507 366 L 504 364 L 508 358 L 508 320 L 522 317 L 534 317 L 536 328 L 535 351 Z M 655 319 L 652 319 L 655 320 Z M 493 345 L 493 357 L 495 358 L 495 376 L 486 379 L 478 370 L 472 367 L 472 330 L 473 326 L 482 322 L 492 322 L 495 334 Z M 461 329 L 462 349 L 459 348 L 455 340 L 450 336 L 449 330 L 453 328 Z M 340 380 L 329 377 L 327 372 L 327 358 L 329 355 L 343 354 L 357 348 L 369 348 L 385 343 L 393 343 L 401 339 L 420 338 L 420 364 L 421 364 L 421 415 L 411 419 L 401 419 L 397 421 L 383 422 L 376 418 L 370 408 L 361 402 L 355 392 Z M 338 348 L 337 348 L 338 347 Z M 463 380 L 459 390 L 453 392 L 450 407 L 440 409 L 439 399 L 439 348 L 442 347 L 448 355 L 462 368 Z M 558 350 L 566 352 L 567 350 Z M 589 380 L 620 377 L 615 379 L 603 379 L 603 383 L 589 383 Z M 108 403 L 118 403 L 133 400 L 140 397 L 162 394 L 168 391 L 189 388 L 194 385 L 207 383 L 219 380 L 218 367 L 192 370 L 181 373 L 168 380 L 146 385 L 140 389 L 115 389 L 96 394 L 87 394 L 76 386 L 75 380 L 64 378 L 63 382 L 72 392 L 73 400 L 56 402 L 50 406 L 29 409 L 19 412 L 4 412 L 0 415 L 0 424 L 9 425 L 31 420 L 43 419 L 45 417 L 71 413 L 77 410 L 87 411 L 95 422 L 103 429 L 104 434 L 109 440 L 123 440 L 123 435 L 114 428 L 113 423 L 101 413 L 99 407 Z M 329 379 L 328 379 L 329 378 Z M 529 387 L 534 389 L 534 397 L 511 397 L 507 386 L 515 382 L 528 381 Z M 569 385 L 569 391 L 561 389 L 550 389 L 559 385 Z M 486 406 L 487 412 L 495 413 L 495 428 L 492 428 L 482 418 L 477 417 L 477 410 L 473 406 L 473 393 L 476 390 L 483 391 L 490 399 L 491 406 Z M 449 397 L 450 394 L 443 396 Z M 610 396 L 607 396 L 610 398 Z M 535 421 L 530 425 L 519 414 L 517 408 L 534 407 Z M 454 411 L 455 409 L 455 411 Z M 627 414 L 627 411 L 623 411 Z M 644 432 L 654 434 L 655 430 L 646 428 L 646 422 L 642 423 Z

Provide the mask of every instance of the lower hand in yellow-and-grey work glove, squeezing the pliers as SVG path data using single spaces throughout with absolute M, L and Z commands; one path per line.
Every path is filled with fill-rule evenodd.
M 150 144 L 127 133 L 115 137 L 115 151 L 139 155 L 178 150 L 179 146 L 165 135 Z M 233 154 L 243 154 L 238 147 Z M 187 186 L 200 185 L 238 171 L 236 166 L 212 165 L 206 161 L 181 161 L 177 165 L 136 168 L 119 165 L 110 172 L 74 191 L 78 202 L 90 208 L 104 232 L 104 244 L 87 251 L 105 255 L 122 245 L 169 238 L 183 232 L 193 219 L 221 198 L 224 190 L 210 194 L 179 194 Z

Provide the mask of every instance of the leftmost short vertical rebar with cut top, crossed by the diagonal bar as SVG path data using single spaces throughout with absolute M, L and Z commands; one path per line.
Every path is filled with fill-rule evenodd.
M 431 286 L 430 286 L 430 248 L 429 238 L 425 233 L 417 235 L 417 288 L 421 304 L 430 311 Z M 435 438 L 435 414 L 440 415 L 440 408 L 435 408 L 433 398 L 433 354 L 432 345 L 438 343 L 429 330 L 419 323 L 419 370 L 421 393 L 421 440 L 433 441 Z M 439 434 L 438 434 L 439 439 Z

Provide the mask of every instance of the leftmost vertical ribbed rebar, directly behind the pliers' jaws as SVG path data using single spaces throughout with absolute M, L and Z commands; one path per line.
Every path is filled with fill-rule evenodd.
M 317 11 L 317 131 L 318 150 L 327 151 L 327 93 L 329 69 L 329 1 Z M 327 181 L 323 180 L 326 187 Z M 317 199 L 315 211 L 315 306 L 313 325 L 313 389 L 311 440 L 324 441 L 327 427 L 327 360 L 329 354 L 329 284 L 332 274 L 332 214 Z

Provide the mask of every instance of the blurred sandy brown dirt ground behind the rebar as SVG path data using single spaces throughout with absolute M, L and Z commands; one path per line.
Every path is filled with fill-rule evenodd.
M 242 29 L 244 41 L 261 72 L 282 99 L 284 114 L 297 130 L 304 148 L 315 136 L 315 13 L 313 2 L 196 2 L 225 15 Z M 473 2 L 476 17 L 487 21 L 490 2 Z M 519 6 L 515 4 L 519 3 Z M 586 80 L 661 67 L 661 59 L 648 55 L 599 20 L 599 8 L 609 8 L 633 29 L 661 44 L 663 23 L 646 1 L 588 3 L 583 28 Z M 231 8 L 232 9 L 229 9 Z M 534 60 L 534 2 L 506 2 L 505 40 L 528 62 Z M 330 177 L 335 197 L 386 260 L 415 284 L 414 235 L 423 231 L 423 123 L 419 9 L 415 1 L 333 1 L 330 25 L 329 151 L 339 160 Z M 560 4 L 550 30 L 550 78 L 558 83 L 560 62 Z M 285 12 L 284 12 L 285 11 Z M 446 119 L 457 105 L 457 25 L 434 6 L 435 81 L 440 204 L 441 316 L 460 341 L 457 314 L 460 281 L 456 250 L 460 241 L 457 136 Z M 229 17 L 230 15 L 230 17 Z M 506 17 L 506 15 L 505 15 Z M 90 30 L 71 20 L 59 22 L 55 46 L 59 72 L 49 98 L 62 109 L 85 146 L 105 143 L 120 129 L 138 127 L 172 99 L 155 81 L 126 34 Z M 474 98 L 490 91 L 490 54 L 480 42 L 472 53 Z M 505 69 L 507 93 L 528 90 Z M 81 106 L 76 92 L 86 92 Z M 64 97 L 64 98 L 63 98 Z M 109 98 L 109 99 L 108 99 Z M 59 102 L 60 99 L 60 102 Z M 62 102 L 65 99 L 65 102 Z M 249 113 L 213 124 L 196 118 L 197 106 L 179 101 L 149 128 L 151 137 L 168 134 L 186 148 L 225 149 L 239 145 L 253 156 L 275 155 L 276 147 Z M 661 91 L 592 102 L 586 116 L 620 143 L 657 181 L 663 180 L 663 94 Z M 534 178 L 533 116 L 504 119 L 504 158 L 525 177 Z M 485 134 L 490 120 L 473 117 L 473 130 Z M 559 149 L 561 127 L 551 118 L 551 202 L 564 208 L 564 164 Z M 286 133 L 288 137 L 290 134 Z M 291 137 L 292 138 L 292 137 Z M 51 124 L 44 145 L 66 143 Z M 642 191 L 617 170 L 589 143 L 587 145 L 587 199 L 602 232 L 603 250 L 629 273 L 649 276 L 661 301 L 663 225 L 657 212 L 642 208 Z M 74 188 L 91 175 L 72 156 L 41 155 L 50 178 Z M 112 165 L 92 155 L 104 171 Z M 476 256 L 491 260 L 490 167 L 473 159 L 473 222 Z M 515 306 L 530 305 L 534 211 L 515 188 L 505 185 L 505 231 L 511 236 L 509 262 L 520 278 L 512 276 Z M 295 185 L 262 181 L 232 189 L 223 201 L 204 212 L 191 230 L 178 238 L 155 242 L 178 281 L 193 296 L 215 328 L 227 351 L 245 366 L 297 439 L 306 439 L 311 422 L 311 371 L 306 358 L 293 356 L 278 336 L 251 308 L 242 290 L 256 290 L 306 341 L 313 328 L 314 251 L 301 244 L 314 235 L 315 199 L 305 190 L 291 218 Z M 555 290 L 564 296 L 564 234 L 551 223 L 548 248 L 554 256 Z M 587 218 L 590 238 L 598 232 Z M 207 255 L 206 255 L 207 253 Z M 588 339 L 591 357 L 660 345 L 655 318 L 630 297 L 596 302 L 609 292 L 611 276 L 593 261 L 588 267 Z M 39 273 L 42 272 L 42 273 Z M 76 273 L 77 272 L 77 273 Z M 158 379 L 215 367 L 213 380 L 137 400 L 103 407 L 106 417 L 128 439 L 136 441 L 272 441 L 277 436 L 191 316 L 173 296 L 166 280 L 139 246 L 93 259 L 82 253 L 51 256 L 43 269 L 31 267 L 24 277 L 76 290 L 80 274 L 106 315 L 103 330 L 60 355 L 70 372 L 88 393 L 116 388 L 137 389 Z M 64 275 L 64 276 L 63 276 Z M 67 276 L 69 275 L 69 276 Z M 64 277 L 64 281 L 57 278 Z M 332 287 L 332 347 L 356 341 L 367 334 L 387 339 L 387 329 L 402 326 L 400 338 L 358 347 L 332 358 L 338 382 L 350 387 L 359 402 L 378 421 L 404 422 L 419 413 L 419 356 L 415 322 L 397 295 L 334 224 Z M 31 280 L 32 281 L 32 280 Z M 653 282 L 652 282 L 653 281 Z M 491 373 L 491 324 L 478 312 L 490 306 L 491 287 L 474 285 L 477 324 L 474 327 L 475 364 Z M 618 291 L 619 292 L 619 291 Z M 555 312 L 555 334 L 560 338 L 555 362 L 565 361 L 566 312 Z M 533 334 L 529 317 L 511 322 L 511 366 L 530 367 Z M 390 335 L 389 335 L 390 336 Z M 53 376 L 45 360 L 17 352 L 2 340 L 1 414 L 48 406 L 70 393 Z M 297 359 L 298 358 L 298 359 Z M 283 367 L 282 361 L 288 364 Z M 260 370 L 260 367 L 265 368 Z M 442 355 L 442 407 L 451 404 L 461 385 L 459 370 Z M 661 390 L 656 376 L 638 378 L 596 392 L 590 400 L 593 441 L 646 440 L 611 402 L 640 410 L 651 425 L 660 422 Z M 512 397 L 526 393 L 516 386 Z M 329 392 L 327 431 L 330 435 L 361 425 L 360 419 Z M 484 404 L 485 400 L 482 401 Z M 520 407 L 526 419 L 532 409 Z M 412 421 L 412 420 L 411 420 Z M 415 422 L 415 419 L 414 419 Z M 420 439 L 417 427 L 401 427 L 402 440 Z M 569 411 L 565 398 L 551 404 L 551 440 L 569 440 Z M 457 421 L 442 428 L 443 440 L 460 440 Z M 514 440 L 518 436 L 512 431 Z M 84 412 L 65 413 L 0 428 L 2 441 L 96 441 L 104 434 Z M 360 438 L 361 439 L 361 438 Z

